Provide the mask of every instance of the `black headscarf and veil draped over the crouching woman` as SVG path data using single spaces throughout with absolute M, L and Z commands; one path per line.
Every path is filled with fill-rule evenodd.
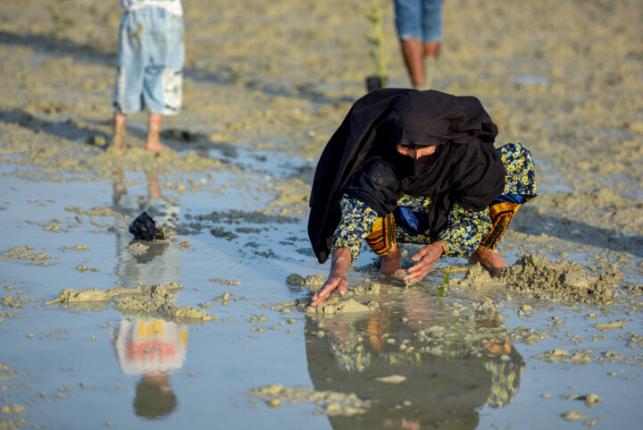
M 476 97 L 439 91 L 379 89 L 360 98 L 321 153 L 313 179 L 308 234 L 321 263 L 341 220 L 344 192 L 379 215 L 404 193 L 431 197 L 425 223 L 439 232 L 454 203 L 480 211 L 505 187 L 505 168 L 493 146 L 497 127 Z M 421 173 L 397 145 L 436 146 Z

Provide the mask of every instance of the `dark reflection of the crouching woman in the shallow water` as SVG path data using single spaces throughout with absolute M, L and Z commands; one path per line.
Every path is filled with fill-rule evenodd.
M 422 294 L 382 292 L 380 310 L 368 315 L 308 319 L 314 389 L 374 401 L 362 416 L 329 417 L 334 429 L 472 429 L 480 407 L 514 399 L 524 362 L 498 316 L 480 307 L 454 316 Z M 405 381 L 378 380 L 392 375 Z

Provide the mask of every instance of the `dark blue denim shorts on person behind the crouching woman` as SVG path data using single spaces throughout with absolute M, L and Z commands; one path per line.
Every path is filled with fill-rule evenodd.
M 444 0 L 394 0 L 397 37 L 424 43 L 442 39 L 442 4 Z

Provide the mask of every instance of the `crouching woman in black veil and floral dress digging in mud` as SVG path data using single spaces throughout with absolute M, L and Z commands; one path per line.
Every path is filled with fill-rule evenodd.
M 536 195 L 522 144 L 493 146 L 497 127 L 475 97 L 380 89 L 362 97 L 330 139 L 313 180 L 308 233 L 330 275 L 313 306 L 347 289 L 365 239 L 382 274 L 402 275 L 397 242 L 422 244 L 404 280 L 419 282 L 438 258 L 470 257 L 492 273 L 508 265 L 496 245 Z

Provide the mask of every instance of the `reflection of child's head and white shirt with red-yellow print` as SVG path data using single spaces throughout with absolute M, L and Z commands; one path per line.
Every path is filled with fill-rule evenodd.
M 126 375 L 141 375 L 134 398 L 139 417 L 169 415 L 177 398 L 171 391 L 170 373 L 185 363 L 188 329 L 159 318 L 121 320 L 111 333 L 119 365 Z

